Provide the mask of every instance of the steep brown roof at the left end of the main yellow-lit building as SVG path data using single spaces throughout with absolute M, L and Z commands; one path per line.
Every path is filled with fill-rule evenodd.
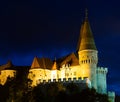
M 52 65 L 53 65 L 53 62 L 49 58 L 35 57 L 31 65 L 31 69 L 33 68 L 51 69 Z

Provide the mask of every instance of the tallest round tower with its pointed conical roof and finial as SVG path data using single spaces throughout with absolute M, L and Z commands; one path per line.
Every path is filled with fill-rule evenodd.
M 80 38 L 78 42 L 79 64 L 82 71 L 82 77 L 88 77 L 91 86 L 97 89 L 96 85 L 96 67 L 98 63 L 97 48 L 94 42 L 92 30 L 88 21 L 86 11 L 85 21 L 80 29 Z

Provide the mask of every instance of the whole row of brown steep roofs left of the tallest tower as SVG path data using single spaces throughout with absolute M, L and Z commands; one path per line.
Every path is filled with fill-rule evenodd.
M 59 58 L 55 60 L 54 62 L 50 60 L 49 58 L 38 58 L 35 57 L 33 59 L 31 69 L 50 69 L 50 70 L 56 70 L 62 67 L 64 64 L 70 64 L 70 66 L 79 65 L 79 61 L 75 53 L 71 53 L 67 56 L 64 56 L 62 58 Z

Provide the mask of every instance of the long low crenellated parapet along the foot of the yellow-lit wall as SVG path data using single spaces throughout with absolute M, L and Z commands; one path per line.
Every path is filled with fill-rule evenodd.
M 59 82 L 59 83 L 85 83 L 87 84 L 88 87 L 91 87 L 91 81 L 87 78 L 87 77 L 84 77 L 84 78 L 59 78 L 59 79 L 48 79 L 48 80 L 41 80 L 41 79 L 38 79 L 37 80 L 37 84 L 47 84 L 47 83 L 53 83 L 53 82 Z

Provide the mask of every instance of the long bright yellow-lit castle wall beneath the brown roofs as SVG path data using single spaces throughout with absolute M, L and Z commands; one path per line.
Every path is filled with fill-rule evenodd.
M 28 78 L 32 80 L 31 86 L 36 86 L 39 82 L 43 82 L 45 80 L 48 82 L 48 80 L 58 80 L 60 79 L 61 81 L 68 79 L 79 79 L 79 78 L 84 79 L 84 77 L 87 76 L 82 76 L 81 74 L 81 67 L 80 65 L 78 66 L 63 66 L 60 68 L 60 70 L 48 70 L 48 69 L 42 69 L 42 68 L 37 68 L 37 69 L 30 69 Z

